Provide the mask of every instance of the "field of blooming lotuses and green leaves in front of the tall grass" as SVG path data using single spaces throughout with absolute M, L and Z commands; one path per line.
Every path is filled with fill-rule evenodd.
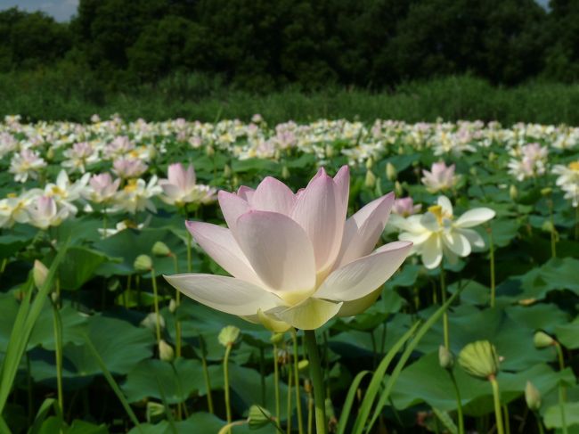
M 0 123 L 0 432 L 579 432 L 579 127 Z

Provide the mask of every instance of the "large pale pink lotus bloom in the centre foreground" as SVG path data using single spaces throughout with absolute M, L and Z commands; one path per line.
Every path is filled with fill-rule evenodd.
M 394 202 L 389 193 L 346 220 L 347 166 L 332 179 L 321 168 L 294 193 L 273 177 L 256 190 L 219 192 L 229 228 L 187 222 L 194 239 L 233 277 L 166 276 L 185 295 L 275 329 L 312 330 L 335 315 L 355 315 L 379 297 L 412 242 L 374 250 Z M 275 324 L 275 327 L 272 327 Z

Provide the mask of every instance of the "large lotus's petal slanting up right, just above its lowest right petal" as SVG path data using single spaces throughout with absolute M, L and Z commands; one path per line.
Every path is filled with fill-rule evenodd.
M 347 219 L 335 268 L 371 253 L 384 231 L 393 204 L 394 192 L 390 192 Z

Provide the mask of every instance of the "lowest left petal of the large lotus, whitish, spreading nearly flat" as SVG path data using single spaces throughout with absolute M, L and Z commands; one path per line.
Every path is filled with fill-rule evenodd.
M 187 297 L 231 315 L 256 315 L 258 309 L 267 310 L 281 304 L 272 292 L 258 286 L 215 274 L 175 274 L 164 276 Z

